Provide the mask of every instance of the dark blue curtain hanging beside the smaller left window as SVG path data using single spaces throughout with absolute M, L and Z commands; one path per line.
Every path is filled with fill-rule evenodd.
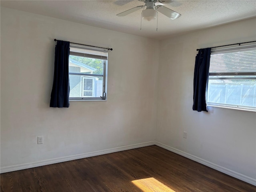
M 69 107 L 69 42 L 57 41 L 50 107 Z

